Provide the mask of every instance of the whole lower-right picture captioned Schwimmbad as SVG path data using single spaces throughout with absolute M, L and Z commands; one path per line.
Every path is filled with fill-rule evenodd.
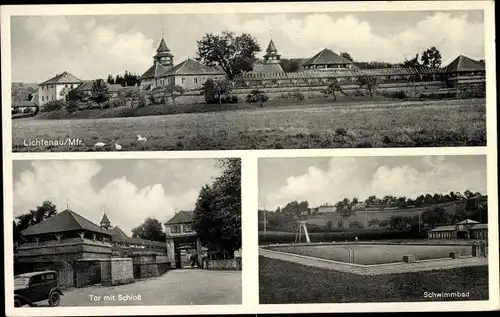
M 488 300 L 486 156 L 259 159 L 260 304 Z

